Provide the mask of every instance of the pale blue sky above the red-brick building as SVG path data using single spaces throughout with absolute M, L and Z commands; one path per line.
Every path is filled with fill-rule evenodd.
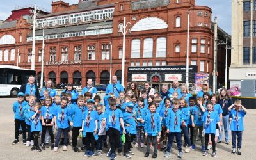
M 3 1 L 3 0 L 2 0 Z M 56 0 L 54 0 L 56 1 Z M 77 4 L 79 0 L 63 0 L 69 4 Z M 218 18 L 218 26 L 227 33 L 231 33 L 231 1 L 230 0 L 195 0 L 196 5 L 212 8 L 212 21 Z M 0 5 L 0 20 L 6 20 L 15 6 L 33 5 L 51 11 L 52 0 L 9 0 Z

